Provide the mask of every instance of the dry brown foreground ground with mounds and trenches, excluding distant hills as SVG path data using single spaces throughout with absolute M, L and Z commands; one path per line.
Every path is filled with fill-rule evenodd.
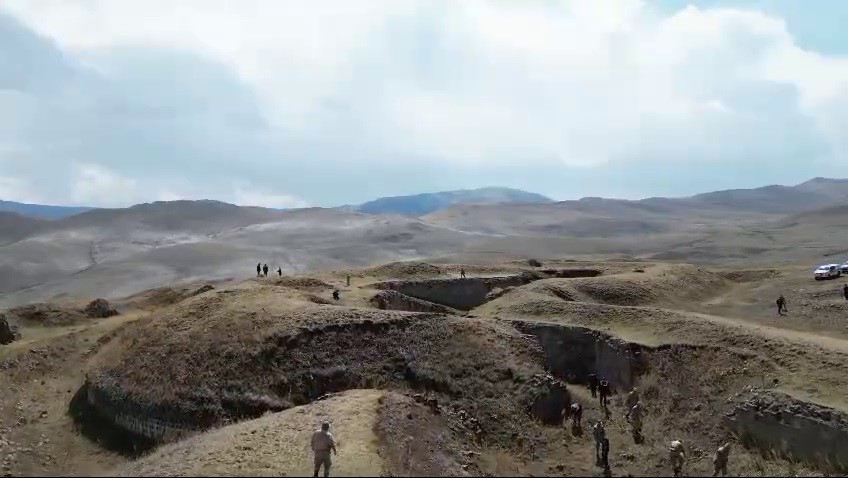
M 303 475 L 327 420 L 336 476 L 602 476 L 590 425 L 604 419 L 612 475 L 668 476 L 671 439 L 687 474 L 710 475 L 726 441 L 731 474 L 845 470 L 844 280 L 813 281 L 802 264 L 540 264 L 200 281 L 113 299 L 106 318 L 85 300 L 13 308 L 0 466 Z M 590 373 L 613 386 L 608 416 Z M 624 418 L 633 386 L 641 442 Z M 562 418 L 573 402 L 580 429 Z

